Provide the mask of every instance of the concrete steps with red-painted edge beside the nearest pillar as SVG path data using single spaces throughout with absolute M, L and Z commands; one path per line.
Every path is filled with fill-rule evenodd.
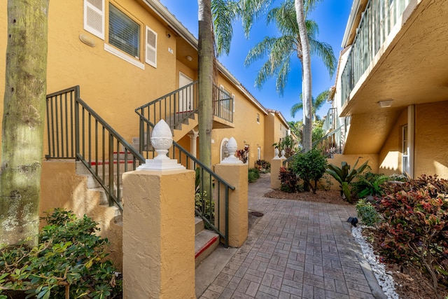
M 219 235 L 204 229 L 204 221 L 195 217 L 195 265 L 202 263 L 219 245 Z

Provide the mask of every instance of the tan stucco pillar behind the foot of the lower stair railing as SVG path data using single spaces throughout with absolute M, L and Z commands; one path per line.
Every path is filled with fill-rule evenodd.
M 248 166 L 241 164 L 218 164 L 215 172 L 235 190 L 229 192 L 229 246 L 239 247 L 244 244 L 248 233 Z M 221 188 L 220 225 L 225 231 L 225 190 Z

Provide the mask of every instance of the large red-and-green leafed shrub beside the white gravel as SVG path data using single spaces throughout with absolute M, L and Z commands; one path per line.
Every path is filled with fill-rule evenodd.
M 380 253 L 426 273 L 437 293 L 438 284 L 448 286 L 448 181 L 421 176 L 388 185 L 378 205 L 385 219 L 378 228 Z

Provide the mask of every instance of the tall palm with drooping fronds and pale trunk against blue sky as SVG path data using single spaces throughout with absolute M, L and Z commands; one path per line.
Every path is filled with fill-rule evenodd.
M 307 5 L 304 6 L 302 1 L 295 0 L 284 1 L 280 7 L 273 8 L 267 14 L 267 22 L 275 22 L 276 27 L 281 33 L 280 37 L 265 37 L 260 43 L 255 45 L 248 53 L 246 65 L 251 64 L 255 60 L 259 60 L 268 55 L 268 60 L 262 65 L 258 76 L 255 79 L 255 85 L 260 88 L 268 78 L 276 76 L 276 90 L 283 95 L 283 89 L 286 86 L 288 74 L 290 71 L 291 56 L 297 55 L 297 58 L 302 63 L 302 94 L 305 106 L 304 111 L 304 125 L 305 137 L 304 146 L 306 149 L 311 148 L 311 67 L 310 55 L 317 55 L 323 60 L 325 67 L 327 67 L 330 76 L 336 69 L 336 58 L 331 46 L 328 43 L 323 43 L 316 40 L 318 34 L 318 25 L 313 20 L 304 20 L 305 39 L 301 36 L 301 27 L 297 18 L 313 8 L 318 0 L 307 0 Z M 297 13 L 297 8 L 299 8 Z M 307 11 L 304 11 L 304 9 Z M 306 15 L 306 14 L 305 14 Z M 309 105 L 307 103 L 309 102 Z M 307 107 L 309 106 L 309 107 Z M 309 132 L 308 132 L 309 131 Z

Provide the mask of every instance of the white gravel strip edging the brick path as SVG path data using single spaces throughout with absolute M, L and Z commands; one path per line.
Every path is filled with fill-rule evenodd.
M 384 291 L 384 294 L 388 299 L 400 299 L 397 293 L 395 293 L 395 282 L 390 274 L 386 273 L 384 264 L 379 262 L 379 257 L 373 252 L 372 246 L 365 240 L 363 234 L 363 228 L 367 228 L 365 225 L 358 225 L 351 228 L 351 235 L 355 238 L 356 242 L 361 247 L 363 251 L 363 256 L 372 267 L 373 274 L 377 277 L 379 286 Z

